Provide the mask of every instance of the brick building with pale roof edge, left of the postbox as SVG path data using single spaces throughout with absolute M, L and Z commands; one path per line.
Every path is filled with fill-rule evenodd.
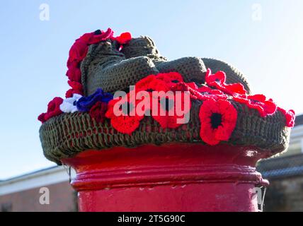
M 45 196 L 49 196 L 49 203 Z M 50 167 L 0 182 L 0 212 L 77 211 L 76 198 L 63 167 Z

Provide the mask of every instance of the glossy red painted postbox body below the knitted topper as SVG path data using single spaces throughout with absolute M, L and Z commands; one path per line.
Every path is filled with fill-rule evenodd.
M 270 152 L 195 143 L 86 150 L 76 169 L 80 211 L 258 211 L 256 162 Z

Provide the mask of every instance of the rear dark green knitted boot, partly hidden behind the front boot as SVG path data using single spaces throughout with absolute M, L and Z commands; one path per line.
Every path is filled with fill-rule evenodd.
M 149 57 L 156 65 L 156 69 L 161 73 L 176 71 L 181 73 L 186 82 L 204 82 L 206 68 L 201 59 L 198 57 L 183 57 L 174 61 L 167 61 L 165 57 L 159 54 L 158 49 L 156 49 L 150 37 L 142 36 L 132 38 L 132 40 L 123 47 L 122 52 L 127 59 L 138 56 Z

